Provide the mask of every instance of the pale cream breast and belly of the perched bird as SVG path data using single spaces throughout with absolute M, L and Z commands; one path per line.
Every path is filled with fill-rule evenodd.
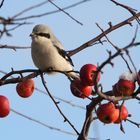
M 33 41 L 31 51 L 33 62 L 40 70 L 44 71 L 50 67 L 60 71 L 73 69 L 71 64 L 58 53 L 51 41 Z

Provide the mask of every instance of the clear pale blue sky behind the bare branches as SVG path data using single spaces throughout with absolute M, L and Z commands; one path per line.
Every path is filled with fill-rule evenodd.
M 39 2 L 41 2 L 41 0 L 28 0 L 22 2 L 18 0 L 5 0 L 3 7 L 0 9 L 1 16 L 11 17 L 23 9 Z M 54 2 L 60 7 L 65 7 L 72 3 L 78 2 L 78 0 L 59 0 Z M 140 11 L 139 2 L 137 0 L 119 0 L 119 2 L 127 4 Z M 29 11 L 22 16 L 24 17 L 27 15 L 50 12 L 53 10 L 56 10 L 56 7 L 48 3 L 40 8 Z M 114 25 L 131 16 L 128 11 L 116 6 L 110 0 L 90 0 L 89 2 L 68 9 L 66 12 L 83 23 L 83 26 L 73 21 L 66 14 L 59 12 L 41 18 L 28 20 L 29 22 L 32 22 L 32 24 L 22 26 L 17 28 L 15 31 L 12 31 L 12 37 L 3 36 L 0 40 L 0 44 L 30 46 L 31 39 L 29 34 L 31 33 L 32 28 L 36 24 L 42 23 L 47 24 L 52 28 L 57 38 L 59 38 L 59 40 L 65 46 L 66 50 L 72 50 L 101 33 L 95 23 L 98 23 L 105 30 L 108 28 L 108 22 L 111 21 Z M 119 47 L 128 45 L 134 36 L 137 22 L 133 21 L 132 24 L 133 27 L 127 25 L 116 31 L 113 31 L 108 35 L 109 39 Z M 136 39 L 137 41 L 140 41 L 139 35 L 140 29 L 138 29 L 138 36 Z M 99 44 L 92 46 L 72 56 L 75 70 L 79 70 L 82 65 L 86 63 L 101 64 L 108 57 L 106 50 L 111 50 L 114 52 L 114 49 L 110 44 L 104 43 L 104 45 Z M 140 69 L 140 63 L 138 61 L 139 52 L 140 47 L 133 48 L 130 51 L 130 55 L 137 69 Z M 35 68 L 31 59 L 30 49 L 17 51 L 1 49 L 0 56 L 0 70 L 2 71 L 10 72 L 11 68 L 14 70 Z M 128 57 L 125 57 L 128 60 Z M 114 59 L 113 63 L 114 67 L 112 68 L 110 65 L 107 65 L 103 69 L 104 73 L 101 75 L 100 82 L 103 85 L 104 91 L 111 90 L 112 85 L 117 82 L 119 75 L 125 71 L 128 71 L 126 64 L 120 57 Z M 132 65 L 131 68 L 133 69 Z M 3 74 L 0 74 L 0 76 L 2 75 Z M 82 100 L 74 97 L 71 94 L 69 88 L 70 83 L 64 75 L 46 75 L 45 80 L 52 95 L 63 98 L 82 107 L 86 107 L 86 105 L 90 103 L 88 99 Z M 40 77 L 34 78 L 34 81 L 38 89 L 44 90 Z M 44 122 L 50 126 L 74 133 L 69 124 L 64 123 L 62 116 L 59 114 L 53 102 L 47 95 L 35 90 L 34 94 L 30 98 L 23 99 L 17 95 L 15 88 L 15 84 L 5 85 L 0 88 L 0 94 L 6 95 L 9 98 L 12 109 Z M 125 104 L 128 107 L 129 113 L 132 114 L 131 119 L 136 122 L 140 122 L 138 111 L 140 110 L 140 106 L 138 101 L 130 100 L 126 101 Z M 60 101 L 59 106 L 63 113 L 74 124 L 75 128 L 78 131 L 81 131 L 85 118 L 85 110 L 72 107 L 62 101 Z M 95 123 L 91 125 L 89 137 L 95 137 L 99 140 L 105 140 L 108 138 L 111 140 L 132 140 L 137 137 L 140 132 L 136 126 L 128 122 L 124 123 L 124 129 L 126 131 L 125 134 L 119 130 L 118 125 L 104 125 L 103 123 L 96 120 Z M 44 140 L 48 138 L 62 140 L 76 139 L 75 136 L 48 129 L 47 127 L 25 119 L 14 112 L 11 112 L 6 118 L 0 119 L 0 130 L 0 137 L 4 140 Z

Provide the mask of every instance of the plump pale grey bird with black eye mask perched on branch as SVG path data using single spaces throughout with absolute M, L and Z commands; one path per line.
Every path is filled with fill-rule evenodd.
M 36 25 L 30 36 L 32 60 L 39 70 L 48 71 L 48 74 L 60 71 L 68 78 L 79 79 L 79 74 L 74 71 L 72 59 L 47 25 Z

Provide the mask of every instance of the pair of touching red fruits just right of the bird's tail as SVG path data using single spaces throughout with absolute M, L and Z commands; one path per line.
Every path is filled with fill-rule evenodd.
M 99 80 L 100 73 L 97 73 L 97 67 L 93 64 L 86 64 L 80 69 L 80 79 L 71 82 L 71 92 L 76 97 L 86 98 L 91 95 L 92 86 L 98 83 Z

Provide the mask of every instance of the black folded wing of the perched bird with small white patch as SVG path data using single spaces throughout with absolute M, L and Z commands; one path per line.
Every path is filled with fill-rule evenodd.
M 66 61 L 68 61 L 72 66 L 74 66 L 72 59 L 70 58 L 70 56 L 67 54 L 67 52 L 61 48 L 59 48 L 58 46 L 54 45 L 58 51 L 58 53 L 66 59 Z

